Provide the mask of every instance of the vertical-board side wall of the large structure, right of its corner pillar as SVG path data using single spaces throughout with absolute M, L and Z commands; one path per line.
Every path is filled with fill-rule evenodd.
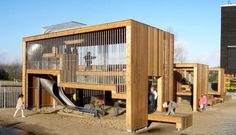
M 173 46 L 174 35 L 148 26 L 148 76 L 162 77 L 158 86 L 158 111 L 162 104 L 173 100 Z

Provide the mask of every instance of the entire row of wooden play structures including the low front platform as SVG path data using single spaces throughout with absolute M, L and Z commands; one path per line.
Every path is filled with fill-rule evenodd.
M 123 110 L 127 131 L 152 122 L 192 125 L 199 99 L 226 99 L 224 69 L 174 63 L 174 35 L 135 21 L 84 26 L 23 38 L 27 109 L 63 106 L 94 116 Z M 114 116 L 115 117 L 115 116 Z

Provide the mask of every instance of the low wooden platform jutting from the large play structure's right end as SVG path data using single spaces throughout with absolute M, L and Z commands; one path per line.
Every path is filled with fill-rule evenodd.
M 149 121 L 176 123 L 176 128 L 178 130 L 183 130 L 192 126 L 192 119 L 193 115 L 187 113 L 176 113 L 175 116 L 168 116 L 165 112 L 148 114 Z

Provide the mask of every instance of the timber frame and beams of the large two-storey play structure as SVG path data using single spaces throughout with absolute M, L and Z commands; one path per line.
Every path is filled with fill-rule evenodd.
M 63 37 L 68 35 L 75 35 L 80 33 L 97 32 L 110 30 L 115 28 L 125 27 L 126 40 L 126 71 L 114 72 L 109 74 L 107 72 L 76 72 L 79 66 L 75 64 L 68 64 L 60 60 L 59 72 L 55 70 L 32 70 L 27 69 L 26 58 L 26 44 L 31 41 L 38 41 L 41 39 L 52 39 L 56 37 Z M 103 42 L 110 42 L 113 39 L 108 39 L 108 34 L 105 33 Z M 122 38 L 122 37 L 121 37 Z M 124 40 L 124 39 L 121 39 Z M 82 42 L 82 41 L 80 41 Z M 87 41 L 86 41 L 87 42 Z M 88 41 L 89 42 L 89 41 Z M 74 43 L 69 43 L 74 44 Z M 69 45 L 68 44 L 68 45 Z M 126 127 L 129 131 L 144 128 L 148 125 L 148 77 L 158 77 L 158 111 L 163 111 L 162 104 L 165 101 L 173 100 L 173 45 L 174 35 L 157 29 L 155 27 L 134 21 L 124 20 L 113 23 L 105 23 L 101 25 L 81 27 L 73 30 L 66 30 L 61 32 L 54 32 L 31 36 L 23 38 L 23 93 L 25 96 L 26 106 L 28 105 L 28 75 L 52 74 L 57 77 L 57 85 L 66 88 L 87 88 L 96 90 L 111 90 L 112 97 L 117 99 L 126 99 Z M 76 59 L 72 55 L 62 56 L 56 54 L 45 54 L 45 57 L 57 57 L 60 59 Z M 67 69 L 65 69 L 67 68 Z M 70 71 L 70 72 L 69 72 Z M 126 77 L 126 93 L 117 93 L 114 86 L 105 85 L 84 85 L 78 84 L 66 79 L 69 76 L 74 77 L 78 75 L 117 75 Z M 72 83 L 73 82 L 73 83 Z

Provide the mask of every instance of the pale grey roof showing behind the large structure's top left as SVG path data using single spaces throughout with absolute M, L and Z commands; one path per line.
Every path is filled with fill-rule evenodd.
M 45 26 L 45 27 L 43 27 L 43 29 L 44 29 L 44 33 L 51 33 L 51 32 L 69 30 L 69 29 L 76 29 L 76 28 L 80 28 L 83 26 L 86 26 L 86 24 L 71 21 L 71 22 L 64 22 L 64 23 L 60 23 L 60 24 Z

